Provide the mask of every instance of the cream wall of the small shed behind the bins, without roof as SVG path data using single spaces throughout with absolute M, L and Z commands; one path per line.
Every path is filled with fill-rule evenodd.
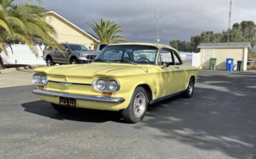
M 233 58 L 236 68 L 237 61 L 244 62 L 243 68 L 246 71 L 247 64 L 247 48 L 202 48 L 201 49 L 201 68 L 210 69 L 210 58 L 217 58 L 216 68 L 218 70 L 226 70 L 226 59 Z

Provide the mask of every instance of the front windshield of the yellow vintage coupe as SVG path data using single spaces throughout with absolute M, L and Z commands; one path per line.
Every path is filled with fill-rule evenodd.
M 105 46 L 94 62 L 156 64 L 157 48 L 143 45 Z

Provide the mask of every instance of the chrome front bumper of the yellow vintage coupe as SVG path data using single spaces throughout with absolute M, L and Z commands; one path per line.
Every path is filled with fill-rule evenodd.
M 123 97 L 102 97 L 102 96 L 90 96 L 90 95 L 73 95 L 68 93 L 57 93 L 52 91 L 45 91 L 41 89 L 33 89 L 32 93 L 36 95 L 48 95 L 54 97 L 70 97 L 75 100 L 91 100 L 96 102 L 110 102 L 110 103 L 122 103 L 125 102 Z

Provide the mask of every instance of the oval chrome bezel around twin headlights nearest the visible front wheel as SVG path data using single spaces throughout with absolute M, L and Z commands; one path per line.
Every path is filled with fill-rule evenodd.
M 99 89 L 98 88 L 98 82 L 102 82 L 104 81 L 105 82 L 105 87 L 104 89 Z M 111 82 L 116 82 L 117 84 L 117 87 L 115 89 L 109 89 L 109 84 Z M 99 79 L 95 79 L 93 81 L 93 88 L 96 90 L 96 91 L 100 91 L 100 92 L 109 92 L 109 93 L 115 93 L 117 91 L 119 91 L 120 89 L 120 83 L 118 82 L 118 80 L 116 79 L 104 79 L 104 78 L 99 78 Z

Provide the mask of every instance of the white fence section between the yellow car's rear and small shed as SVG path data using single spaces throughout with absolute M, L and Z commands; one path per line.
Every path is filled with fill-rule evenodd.
M 180 52 L 183 65 L 199 67 L 199 53 Z

